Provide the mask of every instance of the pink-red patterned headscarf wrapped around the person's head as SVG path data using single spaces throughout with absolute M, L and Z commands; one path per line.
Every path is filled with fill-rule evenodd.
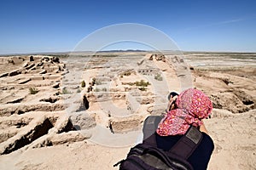
M 189 88 L 177 96 L 177 109 L 161 120 L 156 133 L 160 136 L 184 134 L 190 125 L 201 126 L 201 119 L 211 114 L 212 102 L 200 90 Z

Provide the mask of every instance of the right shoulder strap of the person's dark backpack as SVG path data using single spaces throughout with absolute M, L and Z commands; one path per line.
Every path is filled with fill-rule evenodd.
M 189 130 L 172 146 L 169 152 L 188 159 L 201 143 L 202 138 L 202 133 L 196 127 L 190 126 Z

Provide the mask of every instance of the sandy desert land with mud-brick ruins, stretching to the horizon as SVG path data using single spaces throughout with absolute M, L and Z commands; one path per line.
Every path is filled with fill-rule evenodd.
M 0 57 L 0 169 L 118 169 L 167 95 L 198 88 L 208 169 L 256 167 L 256 54 L 101 52 Z

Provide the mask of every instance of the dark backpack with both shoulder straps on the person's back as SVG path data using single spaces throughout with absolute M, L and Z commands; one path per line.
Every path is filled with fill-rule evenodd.
M 157 148 L 155 130 L 162 117 L 147 117 L 143 125 L 143 144 L 131 148 L 126 159 L 114 167 L 120 164 L 120 170 L 193 170 L 187 159 L 201 143 L 202 133 L 190 126 L 171 150 L 161 150 Z

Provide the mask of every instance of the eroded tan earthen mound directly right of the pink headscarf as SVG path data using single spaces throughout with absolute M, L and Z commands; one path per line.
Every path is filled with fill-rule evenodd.
M 212 99 L 212 105 L 215 109 L 224 109 L 233 113 L 241 113 L 255 108 L 255 99 L 253 98 L 254 88 L 246 85 L 250 84 L 245 78 L 234 77 L 225 73 L 212 71 L 195 71 L 195 86 L 209 94 Z M 245 86 L 240 87 L 240 83 Z M 200 82 L 200 83 L 197 83 Z M 208 84 L 215 82 L 212 86 Z M 212 93 L 212 92 L 215 93 Z M 229 105 L 227 105 L 227 101 Z

